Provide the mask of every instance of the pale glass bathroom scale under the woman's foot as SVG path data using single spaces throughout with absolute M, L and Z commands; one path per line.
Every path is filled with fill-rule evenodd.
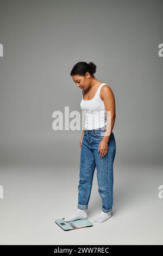
M 55 223 L 57 223 L 59 227 L 65 231 L 93 226 L 93 223 L 87 219 L 65 222 L 64 218 L 59 218 L 58 220 L 55 220 Z

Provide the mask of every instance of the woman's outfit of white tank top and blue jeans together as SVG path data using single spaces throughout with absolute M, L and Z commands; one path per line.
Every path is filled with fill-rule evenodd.
M 93 175 L 97 169 L 98 192 L 102 198 L 102 211 L 112 211 L 113 204 L 113 163 L 116 154 L 116 141 L 111 132 L 108 141 L 108 153 L 103 157 L 98 151 L 99 143 L 106 130 L 106 110 L 99 96 L 102 83 L 91 100 L 83 100 L 80 107 L 85 114 L 84 136 L 80 151 L 80 173 L 78 185 L 78 209 L 87 209 L 91 195 Z M 106 84 L 107 85 L 107 84 Z M 84 92 L 83 92 L 84 93 Z

